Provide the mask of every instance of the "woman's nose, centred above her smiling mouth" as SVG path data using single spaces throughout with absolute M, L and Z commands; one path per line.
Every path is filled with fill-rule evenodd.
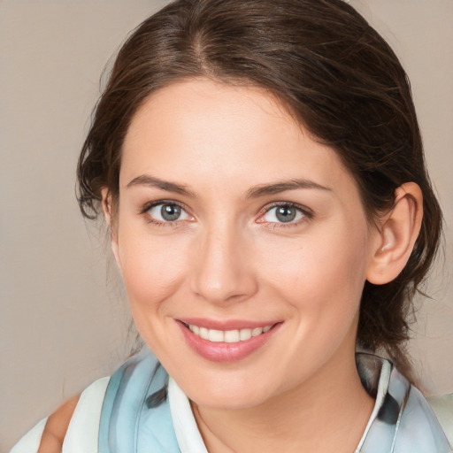
M 225 305 L 248 299 L 257 292 L 250 247 L 234 226 L 207 229 L 198 238 L 192 266 L 192 291 L 210 303 Z

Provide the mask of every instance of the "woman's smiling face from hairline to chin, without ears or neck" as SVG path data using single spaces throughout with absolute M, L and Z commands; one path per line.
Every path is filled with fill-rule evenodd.
M 353 364 L 376 233 L 334 150 L 264 90 L 157 91 L 119 184 L 113 248 L 134 320 L 189 398 L 255 406 Z

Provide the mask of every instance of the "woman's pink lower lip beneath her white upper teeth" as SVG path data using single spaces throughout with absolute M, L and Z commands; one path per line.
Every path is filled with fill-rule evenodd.
M 226 343 L 203 340 L 203 338 L 188 330 L 188 327 L 180 321 L 177 321 L 177 324 L 180 326 L 188 345 L 201 357 L 211 360 L 211 362 L 236 362 L 249 357 L 257 349 L 264 346 L 281 325 L 281 323 L 276 324 L 264 334 L 252 336 L 249 340 L 243 342 Z

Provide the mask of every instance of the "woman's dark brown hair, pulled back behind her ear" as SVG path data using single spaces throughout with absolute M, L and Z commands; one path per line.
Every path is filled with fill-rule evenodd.
M 264 87 L 357 180 L 370 219 L 414 181 L 423 224 L 403 272 L 365 283 L 357 340 L 386 349 L 403 371 L 411 299 L 438 247 L 441 210 L 424 163 L 411 88 L 388 43 L 342 0 L 177 0 L 146 19 L 119 50 L 78 167 L 79 203 L 96 217 L 101 188 L 119 193 L 121 146 L 150 93 L 204 76 Z

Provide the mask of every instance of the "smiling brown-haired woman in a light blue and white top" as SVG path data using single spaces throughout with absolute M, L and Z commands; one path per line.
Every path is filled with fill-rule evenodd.
M 66 403 L 40 451 L 451 450 L 403 377 L 441 211 L 403 68 L 348 4 L 166 6 L 120 50 L 78 175 L 158 363 Z

